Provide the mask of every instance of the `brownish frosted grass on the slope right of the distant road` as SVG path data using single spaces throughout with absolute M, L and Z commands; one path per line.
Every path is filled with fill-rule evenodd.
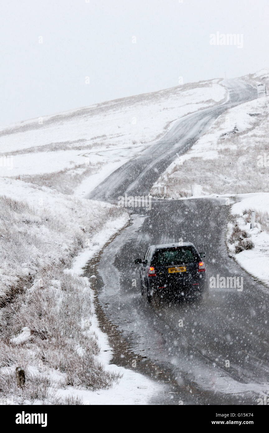
M 269 155 L 268 113 L 266 108 L 263 110 L 248 129 L 238 132 L 237 126 L 232 126 L 230 132 L 212 142 L 208 149 L 218 152 L 217 158 L 202 159 L 202 152 L 197 152 L 198 157 L 182 165 L 175 161 L 172 170 L 158 179 L 158 183 L 167 187 L 165 197 L 189 197 L 191 185 L 200 185 L 204 195 L 269 192 L 269 167 L 259 167 L 257 159 L 264 153 Z M 215 122 L 215 129 L 222 121 L 220 117 Z M 160 196 L 156 188 L 151 192 Z

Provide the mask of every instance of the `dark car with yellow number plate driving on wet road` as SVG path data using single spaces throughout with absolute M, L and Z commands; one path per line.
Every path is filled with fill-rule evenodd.
M 151 302 L 154 293 L 176 297 L 194 297 L 206 286 L 204 254 L 199 254 L 191 242 L 151 245 L 140 264 L 141 294 Z

